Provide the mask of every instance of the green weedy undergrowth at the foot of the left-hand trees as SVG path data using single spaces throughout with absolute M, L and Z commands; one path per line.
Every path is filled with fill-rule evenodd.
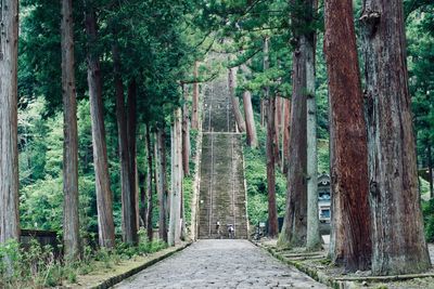
M 135 259 L 167 248 L 161 240 L 148 241 L 145 232 L 139 232 L 138 246 L 118 242 L 112 249 L 89 246 L 84 248 L 81 259 L 65 262 L 56 258 L 51 246 L 40 246 L 33 239 L 27 248 L 15 240 L 0 246 L 0 288 L 47 288 L 77 283 L 78 275 L 86 275 L 98 267 L 113 268 L 123 260 Z

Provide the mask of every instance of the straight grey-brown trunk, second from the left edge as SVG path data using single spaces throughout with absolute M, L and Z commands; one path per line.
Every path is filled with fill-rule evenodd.
M 78 131 L 74 70 L 73 1 L 62 0 L 63 144 L 63 239 L 65 257 L 80 257 L 78 220 Z

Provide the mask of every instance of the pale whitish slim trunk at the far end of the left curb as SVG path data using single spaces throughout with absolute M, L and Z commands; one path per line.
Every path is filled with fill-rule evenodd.
M 175 110 L 171 128 L 171 197 L 168 244 L 175 246 L 181 240 L 181 189 L 182 189 L 182 128 L 181 108 Z

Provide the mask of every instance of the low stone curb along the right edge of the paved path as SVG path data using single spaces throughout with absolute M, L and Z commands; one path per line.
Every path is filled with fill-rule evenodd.
M 357 289 L 360 288 L 359 286 L 356 285 L 356 283 L 354 281 L 347 281 L 347 280 L 336 280 L 333 277 L 330 277 L 328 275 L 326 275 L 322 272 L 319 272 L 312 267 L 309 267 L 301 262 L 296 262 L 293 261 L 291 259 L 284 258 L 283 255 L 279 254 L 278 252 L 276 252 L 275 250 L 272 250 L 269 247 L 265 247 L 260 244 L 254 242 L 252 241 L 253 245 L 261 248 L 263 250 L 267 251 L 268 253 L 270 253 L 273 258 L 278 259 L 279 261 L 281 261 L 284 264 L 294 266 L 295 268 L 297 268 L 298 271 L 305 273 L 306 275 L 310 276 L 314 280 L 319 281 L 326 286 L 329 286 L 331 288 L 334 289 Z

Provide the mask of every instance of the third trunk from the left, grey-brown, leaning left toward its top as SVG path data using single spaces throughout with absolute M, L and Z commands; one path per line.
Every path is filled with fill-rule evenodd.
M 88 37 L 88 86 L 90 118 L 92 123 L 93 166 L 95 173 L 98 236 L 101 247 L 115 246 L 112 189 L 110 187 L 107 147 L 105 142 L 104 104 L 102 102 L 101 65 L 99 56 L 92 51 L 97 39 L 97 18 L 91 8 L 86 12 L 86 32 Z

